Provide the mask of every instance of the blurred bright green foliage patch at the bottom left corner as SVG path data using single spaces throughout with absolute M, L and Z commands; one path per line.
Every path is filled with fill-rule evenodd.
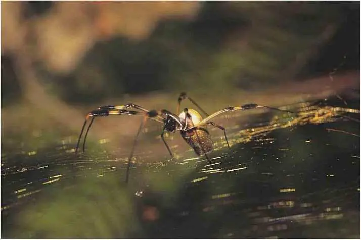
M 43 193 L 15 221 L 14 238 L 119 238 L 141 235 L 136 209 L 117 177 L 81 179 Z M 61 186 L 59 186 L 61 188 Z M 27 228 L 23 228 L 27 226 Z M 61 226 L 61 227 L 59 227 Z M 13 234 L 13 235 L 12 235 Z

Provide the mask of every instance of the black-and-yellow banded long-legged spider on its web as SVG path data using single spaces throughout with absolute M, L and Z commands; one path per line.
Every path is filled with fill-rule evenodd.
M 190 100 L 204 115 L 206 115 L 206 117 L 203 119 L 199 112 L 197 112 L 194 109 L 188 109 L 188 108 L 184 108 L 184 110 L 182 112 L 180 112 L 180 114 L 179 114 L 180 103 L 184 99 Z M 212 115 L 209 115 L 191 97 L 187 96 L 187 94 L 185 92 L 182 92 L 179 95 L 176 114 L 174 114 L 168 110 L 165 110 L 165 109 L 160 110 L 160 111 L 158 111 L 158 110 L 150 110 L 149 111 L 149 110 L 143 108 L 142 106 L 139 106 L 139 105 L 136 105 L 133 103 L 128 103 L 126 105 L 100 106 L 100 107 L 98 107 L 97 110 L 91 111 L 86 115 L 83 127 L 82 127 L 80 135 L 79 135 L 79 139 L 78 139 L 78 142 L 76 145 L 75 155 L 77 155 L 80 139 L 81 139 L 84 128 L 85 128 L 86 123 L 89 120 L 89 118 L 91 118 L 91 122 L 88 125 L 88 128 L 87 128 L 85 136 L 84 136 L 83 152 L 85 151 L 85 141 L 86 141 L 87 134 L 93 124 L 95 117 L 109 116 L 109 115 L 141 115 L 141 116 L 143 116 L 143 121 L 141 122 L 138 132 L 136 134 L 136 137 L 134 138 L 134 143 L 132 145 L 130 155 L 128 158 L 128 167 L 127 167 L 126 178 L 125 178 L 126 183 L 128 182 L 128 179 L 129 179 L 130 161 L 133 157 L 134 148 L 136 147 L 138 136 L 139 136 L 143 126 L 145 125 L 147 119 L 152 119 L 153 121 L 163 124 L 163 130 L 162 130 L 160 136 L 161 136 L 161 139 L 164 142 L 164 145 L 166 146 L 172 159 L 174 159 L 173 154 L 169 148 L 169 145 L 167 144 L 167 142 L 164 139 L 164 133 L 165 132 L 174 133 L 176 131 L 179 131 L 182 138 L 193 148 L 194 152 L 198 156 L 201 156 L 203 154 L 207 158 L 208 162 L 211 163 L 207 153 L 212 151 L 213 142 L 211 140 L 209 132 L 206 129 L 207 125 L 211 125 L 213 127 L 220 129 L 221 131 L 223 131 L 224 139 L 227 142 L 228 148 L 231 150 L 230 144 L 227 139 L 227 134 L 225 132 L 225 128 L 211 122 L 211 119 L 224 112 L 259 109 L 259 108 L 267 108 L 267 109 L 272 109 L 272 110 L 290 112 L 290 111 L 281 110 L 278 108 L 258 105 L 255 103 L 249 103 L 249 104 L 244 104 L 244 105 L 237 106 L 237 107 L 226 107 L 220 111 L 213 113 Z M 292 112 L 290 112 L 290 113 L 292 113 Z

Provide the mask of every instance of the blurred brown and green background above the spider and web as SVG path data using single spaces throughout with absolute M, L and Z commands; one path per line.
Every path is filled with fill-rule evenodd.
M 187 91 L 212 112 L 359 89 L 359 3 L 7 1 L 1 59 L 3 147 L 38 147 L 102 104 L 174 111 Z

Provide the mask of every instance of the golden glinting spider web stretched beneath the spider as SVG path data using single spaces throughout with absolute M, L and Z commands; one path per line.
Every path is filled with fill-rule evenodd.
M 227 128 L 232 155 L 222 134 L 211 131 L 215 142 L 210 155 L 212 164 L 204 157 L 195 157 L 191 149 L 180 152 L 176 146 L 172 146 L 177 156 L 174 161 L 166 157 L 149 162 L 147 159 L 152 153 L 139 151 L 128 187 L 121 184 L 127 164 L 125 153 L 124 157 L 115 157 L 95 148 L 74 161 L 74 143 L 36 153 L 2 153 L 2 217 L 6 219 L 2 225 L 7 226 L 7 222 L 21 217 L 23 220 L 18 226 L 30 226 L 34 236 L 41 237 L 41 229 L 53 231 L 53 225 L 34 225 L 36 211 L 45 208 L 55 213 L 56 209 L 64 208 L 58 213 L 61 219 L 58 224 L 62 224 L 74 217 L 65 214 L 66 209 L 73 209 L 65 204 L 67 198 L 62 197 L 68 196 L 70 190 L 67 189 L 80 191 L 79 195 L 72 192 L 78 196 L 73 197 L 74 208 L 78 209 L 83 206 L 77 203 L 82 199 L 81 191 L 91 188 L 97 192 L 93 198 L 101 196 L 103 203 L 97 205 L 97 200 L 90 200 L 89 207 L 104 210 L 109 205 L 113 212 L 108 209 L 102 217 L 91 214 L 100 217 L 99 224 L 124 214 L 123 208 L 116 207 L 114 197 L 109 197 L 120 191 L 118 195 L 123 196 L 116 195 L 118 201 L 125 201 L 128 196 L 137 203 L 137 209 L 143 209 L 139 210 L 143 213 L 128 214 L 140 216 L 136 223 L 147 237 L 313 237 L 319 236 L 319 231 L 312 230 L 315 227 L 319 227 L 324 236 L 345 236 L 338 233 L 340 230 L 347 230 L 349 237 L 356 236 L 359 103 L 351 99 L 345 106 L 335 97 L 281 109 L 295 114 L 261 112 L 252 115 L 252 122 L 237 114 L 219 117 L 220 123 L 227 123 L 227 119 L 236 121 Z M 93 179 L 89 180 L 93 185 L 84 179 Z M 110 187 L 104 190 L 104 186 L 114 186 L 114 183 L 119 190 Z M 130 193 L 125 191 L 127 188 Z M 48 193 L 52 192 L 55 195 L 49 197 Z M 36 204 L 29 206 L 29 202 Z M 55 205 L 50 205 L 51 202 Z M 134 202 L 123 204 L 131 206 L 126 204 Z M 168 215 L 159 218 L 164 211 Z M 85 215 L 80 219 L 83 217 Z M 114 224 L 124 228 L 125 235 L 114 231 L 117 224 L 106 227 L 103 231 L 107 234 L 95 230 L 94 235 L 132 236 L 130 223 L 114 219 Z M 142 225 L 148 221 L 155 221 L 154 228 Z M 178 225 L 179 221 L 187 224 Z M 193 229 L 192 224 L 199 221 L 203 221 L 202 227 Z M 212 224 L 218 226 L 214 228 Z M 158 228 L 168 230 L 157 233 Z M 16 232 L 7 228 L 3 236 L 20 236 Z M 68 233 L 71 235 L 71 232 Z M 86 232 L 81 229 L 79 237 Z M 55 234 L 64 236 L 64 232 Z

